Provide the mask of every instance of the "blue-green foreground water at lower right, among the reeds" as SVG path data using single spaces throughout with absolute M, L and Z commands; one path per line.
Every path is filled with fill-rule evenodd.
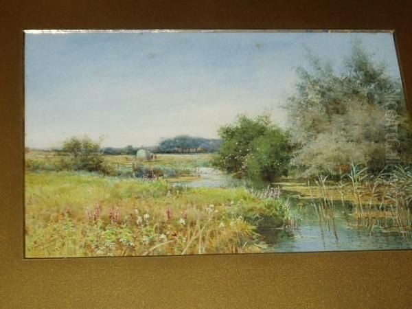
M 296 211 L 296 203 L 291 203 L 290 208 L 291 211 Z M 369 233 L 368 229 L 350 225 L 351 217 L 342 207 L 335 209 L 332 228 L 332 224 L 328 227 L 324 222 L 319 222 L 316 212 L 310 205 L 300 209 L 302 220 L 299 229 L 260 231 L 266 242 L 270 244 L 268 252 L 412 249 L 410 231 L 399 233 L 399 231 L 385 231 L 375 227 Z

